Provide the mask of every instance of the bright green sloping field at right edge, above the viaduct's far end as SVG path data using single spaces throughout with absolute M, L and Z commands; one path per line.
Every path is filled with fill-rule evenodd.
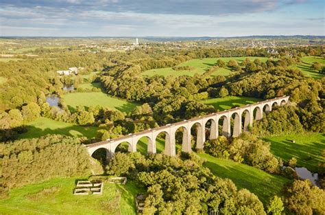
M 325 67 L 325 59 L 321 57 L 316 57 L 316 56 L 306 56 L 301 58 L 302 63 L 296 65 L 295 67 L 300 69 L 302 73 L 304 73 L 305 76 L 309 76 L 312 78 L 323 78 L 325 75 L 322 73 L 318 73 L 317 71 L 311 69 L 311 65 L 313 63 L 321 63 L 322 67 Z

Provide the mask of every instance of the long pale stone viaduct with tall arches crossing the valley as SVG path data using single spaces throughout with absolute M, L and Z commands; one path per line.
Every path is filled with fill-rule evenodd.
M 99 148 L 106 149 L 107 159 L 112 157 L 115 149 L 123 142 L 128 143 L 128 150 L 136 152 L 136 145 L 139 139 L 147 137 L 147 152 L 156 153 L 156 138 L 161 133 L 165 133 L 165 155 L 176 155 L 176 131 L 182 128 L 182 151 L 191 152 L 191 128 L 196 126 L 196 147 L 202 149 L 206 141 L 206 123 L 210 121 L 209 139 L 216 139 L 219 135 L 226 137 L 237 137 L 242 132 L 248 131 L 254 120 L 261 120 L 263 112 L 272 111 L 272 106 L 286 104 L 289 96 L 282 96 L 271 100 L 265 100 L 254 104 L 233 108 L 226 111 L 212 113 L 202 117 L 195 117 L 191 120 L 184 120 L 173 124 L 167 124 L 158 128 L 150 128 L 147 131 L 129 134 L 116 139 L 107 139 L 106 141 L 86 145 L 90 155 Z M 230 119 L 234 119 L 234 125 L 231 129 Z M 219 134 L 219 120 L 222 120 L 222 133 Z M 230 131 L 232 130 L 232 131 Z

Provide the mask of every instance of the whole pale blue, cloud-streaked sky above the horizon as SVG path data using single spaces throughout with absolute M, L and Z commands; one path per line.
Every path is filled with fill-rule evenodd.
M 324 36 L 324 2 L 1 0 L 0 36 Z

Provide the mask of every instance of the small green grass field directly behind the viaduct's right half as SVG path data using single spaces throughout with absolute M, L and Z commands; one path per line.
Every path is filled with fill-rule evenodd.
M 208 100 L 202 100 L 201 102 L 203 104 L 210 104 L 219 111 L 224 111 L 226 109 L 231 109 L 234 106 L 244 106 L 245 104 L 253 104 L 259 101 L 261 101 L 261 99 L 244 96 L 227 96 L 225 98 L 210 98 Z

